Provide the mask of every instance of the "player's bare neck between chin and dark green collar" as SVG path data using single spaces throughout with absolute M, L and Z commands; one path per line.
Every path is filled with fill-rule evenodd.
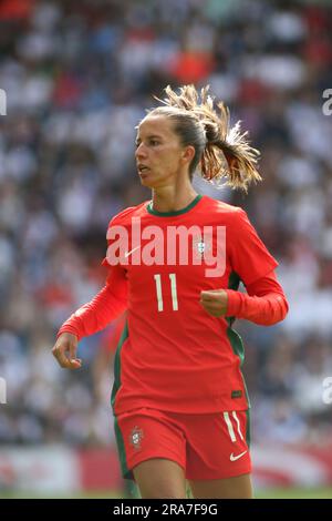
M 153 191 L 153 208 L 157 212 L 177 212 L 188 206 L 197 197 L 197 192 L 189 186 L 165 186 Z

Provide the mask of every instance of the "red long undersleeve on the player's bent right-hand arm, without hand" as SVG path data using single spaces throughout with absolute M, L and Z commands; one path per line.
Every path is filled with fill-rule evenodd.
M 228 317 L 271 326 L 283 320 L 288 313 L 286 296 L 273 272 L 249 285 L 248 295 L 232 289 L 226 292 Z

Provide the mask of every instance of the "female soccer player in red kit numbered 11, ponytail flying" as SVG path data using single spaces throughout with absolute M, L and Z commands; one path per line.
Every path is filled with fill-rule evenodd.
M 112 405 L 123 474 L 143 498 L 186 498 L 186 480 L 195 498 L 252 497 L 243 347 L 232 324 L 276 324 L 288 304 L 246 213 L 191 185 L 197 168 L 245 191 L 259 181 L 245 136 L 207 88 L 166 88 L 137 131 L 152 201 L 111 221 L 106 285 L 53 348 L 62 367 L 81 367 L 79 340 L 127 309 Z

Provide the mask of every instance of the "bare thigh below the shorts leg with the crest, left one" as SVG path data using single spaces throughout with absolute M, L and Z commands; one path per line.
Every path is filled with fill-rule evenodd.
M 184 499 L 186 479 L 184 469 L 175 461 L 154 458 L 133 469 L 143 499 Z

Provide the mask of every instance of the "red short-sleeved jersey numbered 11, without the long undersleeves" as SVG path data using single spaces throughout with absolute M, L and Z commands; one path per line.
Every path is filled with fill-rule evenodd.
M 163 232 L 157 251 L 164 252 L 164 264 L 139 263 L 149 241 L 142 238 L 141 246 L 136 246 L 134 218 L 139 221 L 142 234 L 156 225 Z M 228 288 L 232 272 L 248 285 L 278 265 L 259 239 L 246 212 L 203 196 L 190 210 L 167 216 L 151 214 L 147 203 L 143 203 L 120 214 L 110 231 L 116 226 L 127 231 L 127 244 L 123 249 L 124 253 L 133 251 L 133 254 L 126 266 L 123 263 L 128 279 L 128 337 L 118 357 L 121 386 L 115 396 L 115 413 L 141 407 L 184 413 L 246 409 L 241 360 L 230 341 L 228 321 L 225 317 L 210 316 L 199 304 L 203 289 Z M 197 226 L 201 232 L 205 227 L 212 228 L 211 239 L 205 241 L 207 249 L 215 254 L 217 226 L 225 227 L 224 274 L 208 277 L 204 262 L 181 265 L 178 252 L 173 265 L 165 262 L 167 233 L 170 227 L 180 226 L 185 229 Z M 121 249 L 115 235 L 110 246 Z M 197 251 L 197 244 L 195 246 L 191 239 L 188 252 L 194 251 Z M 174 293 L 177 306 L 174 306 Z M 231 397 L 234 390 L 241 391 L 239 398 Z

